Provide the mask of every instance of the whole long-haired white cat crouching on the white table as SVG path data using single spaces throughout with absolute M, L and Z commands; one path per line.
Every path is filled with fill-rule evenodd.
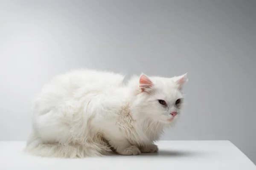
M 25 151 L 84 158 L 157 152 L 154 144 L 183 104 L 179 77 L 133 77 L 77 70 L 52 79 L 35 100 L 33 130 Z

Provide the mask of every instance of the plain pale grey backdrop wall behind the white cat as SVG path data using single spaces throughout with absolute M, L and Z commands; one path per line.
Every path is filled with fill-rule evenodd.
M 26 140 L 32 99 L 76 68 L 172 77 L 186 106 L 163 140 L 230 140 L 256 163 L 256 1 L 0 1 L 0 140 Z

